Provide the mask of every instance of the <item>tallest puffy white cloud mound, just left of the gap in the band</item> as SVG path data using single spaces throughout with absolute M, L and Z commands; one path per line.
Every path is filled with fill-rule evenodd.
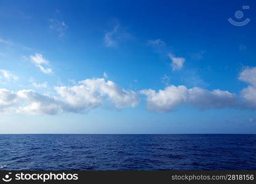
M 79 83 L 81 85 L 55 88 L 73 111 L 92 109 L 106 100 L 113 102 L 116 108 L 135 107 L 140 102 L 136 92 L 124 90 L 111 80 L 86 79 Z

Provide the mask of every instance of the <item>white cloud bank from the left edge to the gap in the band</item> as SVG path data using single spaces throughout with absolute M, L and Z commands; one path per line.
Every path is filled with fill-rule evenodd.
M 34 90 L 15 92 L 0 89 L 0 112 L 55 115 L 62 112 L 80 113 L 103 105 L 135 107 L 140 102 L 138 94 L 124 90 L 116 83 L 105 79 L 86 79 L 76 86 L 57 86 L 60 97 L 39 94 Z

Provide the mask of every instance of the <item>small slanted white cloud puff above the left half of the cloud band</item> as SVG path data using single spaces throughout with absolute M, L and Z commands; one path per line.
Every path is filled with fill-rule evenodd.
M 44 74 L 52 73 L 52 69 L 45 67 L 49 65 L 49 61 L 45 59 L 40 53 L 35 53 L 34 56 L 30 55 L 30 60 L 34 63 Z

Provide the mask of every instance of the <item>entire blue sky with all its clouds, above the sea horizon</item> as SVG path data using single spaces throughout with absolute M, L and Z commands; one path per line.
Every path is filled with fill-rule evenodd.
M 253 1 L 0 1 L 0 133 L 255 134 L 255 15 Z

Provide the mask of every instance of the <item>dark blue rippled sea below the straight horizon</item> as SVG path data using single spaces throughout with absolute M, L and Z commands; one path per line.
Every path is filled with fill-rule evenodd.
M 0 135 L 1 170 L 256 170 L 256 135 Z

